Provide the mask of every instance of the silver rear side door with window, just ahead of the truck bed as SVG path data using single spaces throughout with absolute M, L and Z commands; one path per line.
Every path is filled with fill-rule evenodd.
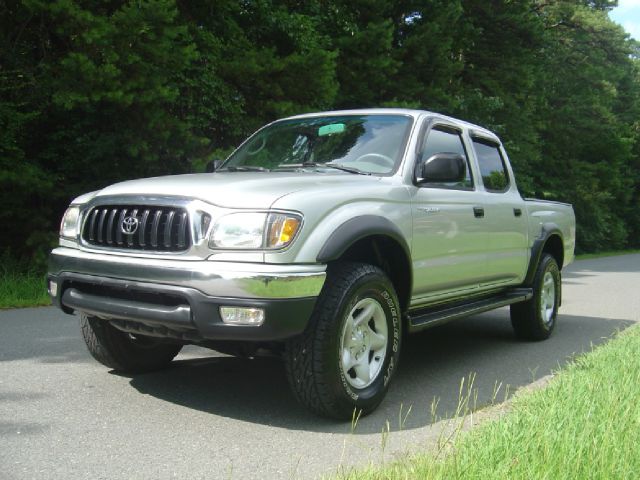
M 486 278 L 482 287 L 518 284 L 527 268 L 527 210 L 506 161 L 506 152 L 492 139 L 472 137 L 484 186 L 487 228 Z

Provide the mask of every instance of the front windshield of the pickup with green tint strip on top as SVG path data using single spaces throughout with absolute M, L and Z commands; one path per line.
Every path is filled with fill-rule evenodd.
M 338 169 L 393 173 L 404 151 L 411 118 L 343 115 L 276 122 L 254 134 L 222 170 Z

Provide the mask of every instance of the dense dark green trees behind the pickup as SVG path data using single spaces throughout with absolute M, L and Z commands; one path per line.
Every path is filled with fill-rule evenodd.
M 638 45 L 599 0 L 0 0 L 0 250 L 74 196 L 202 168 L 261 124 L 410 106 L 497 131 L 580 251 L 640 243 Z

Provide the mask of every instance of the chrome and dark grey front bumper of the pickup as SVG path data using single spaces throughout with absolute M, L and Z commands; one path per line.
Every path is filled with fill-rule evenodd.
M 59 247 L 49 258 L 54 305 L 131 333 L 180 339 L 283 340 L 306 327 L 325 265 L 166 260 Z M 259 326 L 224 323 L 220 307 L 264 311 Z

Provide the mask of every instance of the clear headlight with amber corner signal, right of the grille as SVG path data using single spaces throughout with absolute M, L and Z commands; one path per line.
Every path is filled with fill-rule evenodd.
M 213 226 L 209 247 L 230 249 L 278 249 L 289 245 L 302 219 L 291 213 L 231 213 Z

